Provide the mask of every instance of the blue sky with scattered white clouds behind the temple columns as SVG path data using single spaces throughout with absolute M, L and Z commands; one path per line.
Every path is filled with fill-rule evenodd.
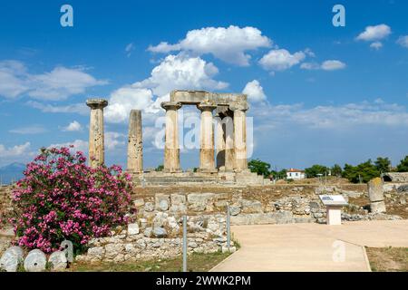
M 60 24 L 63 4 L 73 27 Z M 335 4 L 345 27 L 332 24 Z M 91 96 L 110 102 L 107 162 L 125 165 L 135 108 L 145 167 L 157 166 L 158 104 L 173 89 L 247 92 L 252 158 L 278 169 L 395 165 L 408 153 L 407 13 L 403 0 L 2 2 L 0 166 L 42 146 L 86 150 Z M 198 150 L 181 163 L 198 166 Z

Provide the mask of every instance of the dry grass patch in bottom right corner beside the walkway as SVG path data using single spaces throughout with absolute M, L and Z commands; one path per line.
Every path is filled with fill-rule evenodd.
M 408 247 L 365 247 L 373 272 L 407 272 Z

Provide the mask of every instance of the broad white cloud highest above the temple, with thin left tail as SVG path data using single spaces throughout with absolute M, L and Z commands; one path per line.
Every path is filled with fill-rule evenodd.
M 246 66 L 249 64 L 249 50 L 270 47 L 272 41 L 255 27 L 205 27 L 191 30 L 179 43 L 159 43 L 150 46 L 154 53 L 170 53 L 172 51 L 189 51 L 199 55 L 210 53 L 226 63 Z

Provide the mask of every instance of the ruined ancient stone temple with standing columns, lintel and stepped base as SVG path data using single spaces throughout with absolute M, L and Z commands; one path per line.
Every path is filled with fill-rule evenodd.
M 103 108 L 107 101 L 91 99 L 90 164 L 102 164 Z M 194 105 L 200 111 L 199 169 L 180 168 L 178 111 Z M 165 114 L 164 169 L 143 170 L 141 111 L 132 110 L 129 121 L 128 171 L 136 185 L 178 184 L 267 184 L 268 179 L 249 172 L 247 160 L 248 100 L 245 94 L 204 91 L 173 91 L 170 102 L 162 102 Z M 217 135 L 214 133 L 214 122 Z

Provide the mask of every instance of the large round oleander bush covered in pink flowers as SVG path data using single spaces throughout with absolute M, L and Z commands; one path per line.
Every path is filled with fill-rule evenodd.
M 80 253 L 90 238 L 128 222 L 130 176 L 120 166 L 92 169 L 85 162 L 81 151 L 52 148 L 27 164 L 13 191 L 17 245 L 50 253 L 68 239 Z

